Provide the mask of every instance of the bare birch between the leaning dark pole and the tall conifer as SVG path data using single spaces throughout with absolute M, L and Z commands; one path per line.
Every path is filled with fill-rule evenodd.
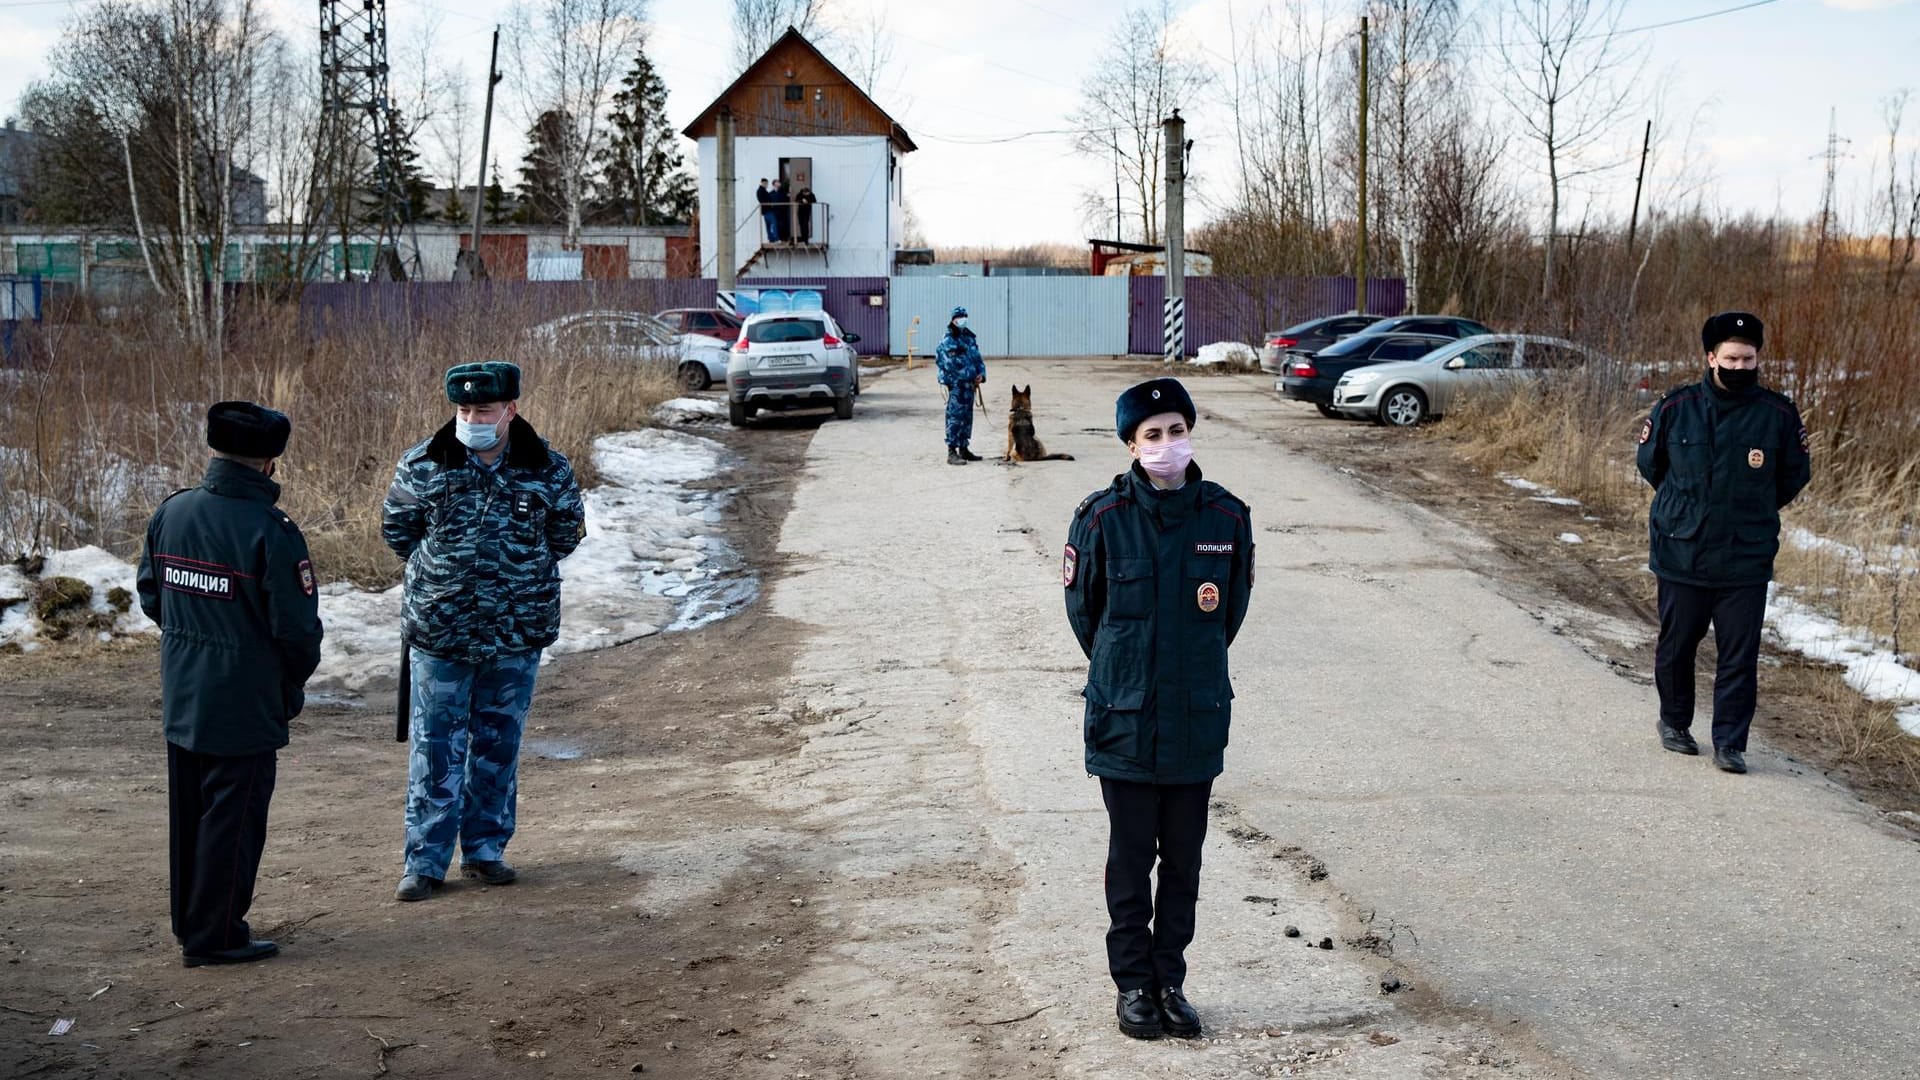
M 526 123 L 561 117 L 540 165 L 561 183 L 566 246 L 580 246 L 593 156 L 614 83 L 647 40 L 647 0 L 532 0 L 513 10 L 515 77 Z

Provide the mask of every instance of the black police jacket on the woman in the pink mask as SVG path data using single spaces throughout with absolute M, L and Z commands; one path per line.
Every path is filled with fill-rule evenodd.
M 1187 467 L 1154 488 L 1135 465 L 1073 511 L 1060 569 L 1087 653 L 1087 773 L 1150 784 L 1219 776 L 1233 682 L 1227 646 L 1254 588 L 1246 503 Z

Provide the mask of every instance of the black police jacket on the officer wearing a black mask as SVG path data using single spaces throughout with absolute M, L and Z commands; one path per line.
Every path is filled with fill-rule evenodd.
M 1653 484 L 1647 567 L 1709 588 L 1766 584 L 1780 507 L 1812 477 L 1807 429 L 1786 394 L 1730 394 L 1713 373 L 1653 405 L 1640 427 L 1640 475 Z

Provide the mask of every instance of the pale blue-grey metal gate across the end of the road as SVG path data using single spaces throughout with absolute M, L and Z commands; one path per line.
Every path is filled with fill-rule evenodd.
M 968 309 L 983 356 L 1127 352 L 1123 277 L 895 277 L 887 294 L 895 354 L 912 331 L 914 354 L 931 356 L 954 307 Z

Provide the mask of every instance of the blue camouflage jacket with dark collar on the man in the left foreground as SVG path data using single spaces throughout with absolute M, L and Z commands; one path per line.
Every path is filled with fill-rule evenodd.
M 559 561 L 586 536 L 566 457 L 515 417 L 488 469 L 453 423 L 399 455 L 380 507 L 386 546 L 407 559 L 401 623 L 413 648 L 480 663 L 561 636 Z

